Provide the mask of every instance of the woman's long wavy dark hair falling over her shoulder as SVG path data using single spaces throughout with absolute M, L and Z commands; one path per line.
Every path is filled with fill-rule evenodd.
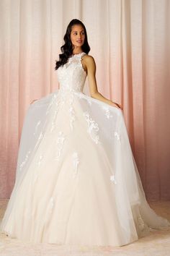
M 82 51 L 84 51 L 86 54 L 89 54 L 90 46 L 87 40 L 87 34 L 86 34 L 86 27 L 84 26 L 83 22 L 81 20 L 73 19 L 68 24 L 66 34 L 64 35 L 63 40 L 65 41 L 65 44 L 61 46 L 61 52 L 63 54 L 59 54 L 59 61 L 56 61 L 55 70 L 58 69 L 58 67 L 61 67 L 63 64 L 65 64 L 68 61 L 68 58 L 73 54 L 73 46 L 71 43 L 71 28 L 73 25 L 81 25 L 84 28 L 84 44 L 81 46 Z

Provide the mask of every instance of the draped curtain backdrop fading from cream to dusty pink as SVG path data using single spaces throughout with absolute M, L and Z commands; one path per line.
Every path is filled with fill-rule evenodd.
M 170 198 L 170 1 L 0 1 L 0 197 L 14 186 L 30 102 L 58 88 L 54 70 L 66 26 L 86 25 L 97 85 L 121 103 L 146 197 Z M 88 80 L 86 80 L 88 86 Z

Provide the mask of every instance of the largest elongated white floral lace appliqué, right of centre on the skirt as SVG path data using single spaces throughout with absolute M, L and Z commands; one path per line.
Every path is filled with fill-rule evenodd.
M 91 139 L 94 140 L 95 143 L 99 143 L 99 135 L 97 135 L 97 132 L 99 132 L 99 126 L 93 119 L 89 117 L 88 112 L 84 112 L 84 116 L 86 118 L 86 121 L 88 123 L 88 129 Z

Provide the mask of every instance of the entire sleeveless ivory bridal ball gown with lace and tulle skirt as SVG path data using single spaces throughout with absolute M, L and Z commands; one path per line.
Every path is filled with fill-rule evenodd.
M 83 93 L 76 54 L 30 105 L 1 231 L 29 242 L 122 246 L 170 223 L 146 201 L 122 110 Z

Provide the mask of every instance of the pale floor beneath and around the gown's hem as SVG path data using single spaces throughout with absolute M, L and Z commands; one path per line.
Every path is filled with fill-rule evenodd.
M 0 200 L 0 218 L 7 200 Z M 151 208 L 170 221 L 170 201 L 149 202 Z M 66 247 L 55 244 L 31 244 L 0 234 L 1 256 L 170 256 L 170 231 L 151 231 L 146 237 L 123 247 Z

